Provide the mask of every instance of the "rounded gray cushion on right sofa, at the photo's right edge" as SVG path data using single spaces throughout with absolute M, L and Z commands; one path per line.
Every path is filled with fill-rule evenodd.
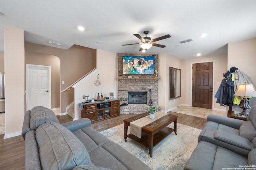
M 240 136 L 248 139 L 250 142 L 256 137 L 256 129 L 252 124 L 252 121 L 247 121 L 240 126 Z

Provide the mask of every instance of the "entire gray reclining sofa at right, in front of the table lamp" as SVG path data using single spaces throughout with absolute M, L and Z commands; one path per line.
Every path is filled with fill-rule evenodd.
M 256 105 L 248 120 L 209 115 L 184 170 L 256 169 Z

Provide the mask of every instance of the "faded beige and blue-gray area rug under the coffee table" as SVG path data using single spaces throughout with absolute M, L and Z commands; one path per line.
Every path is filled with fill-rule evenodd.
M 168 125 L 173 128 L 173 123 Z M 198 136 L 202 130 L 177 123 L 177 133 L 174 132 L 153 148 L 150 158 L 148 149 L 127 138 L 124 141 L 124 124 L 102 131 L 110 141 L 117 143 L 131 154 L 139 158 L 152 170 L 183 170 L 188 158 L 196 148 Z M 128 134 L 130 129 L 128 127 Z

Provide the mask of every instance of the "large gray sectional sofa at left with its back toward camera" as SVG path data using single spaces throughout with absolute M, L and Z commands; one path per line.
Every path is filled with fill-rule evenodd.
M 150 170 L 91 127 L 90 119 L 60 124 L 52 110 L 26 111 L 22 127 L 26 170 Z

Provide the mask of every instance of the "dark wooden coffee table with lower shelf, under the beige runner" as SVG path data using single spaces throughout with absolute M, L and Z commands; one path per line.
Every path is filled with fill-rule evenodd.
M 152 119 L 152 123 L 145 125 L 142 127 L 142 135 L 141 138 L 136 137 L 133 134 L 128 134 L 128 126 L 132 121 L 141 119 L 149 115 L 148 112 L 143 113 L 141 115 L 136 115 L 134 117 L 130 117 L 128 119 L 124 119 L 124 140 L 127 142 L 127 137 L 140 143 L 144 147 L 147 147 L 149 150 L 150 157 L 152 157 L 153 147 L 156 146 L 160 141 L 170 135 L 173 131 L 175 135 L 177 135 L 177 117 L 176 115 L 168 114 L 160 119 Z M 174 122 L 174 129 L 167 127 L 170 123 Z

